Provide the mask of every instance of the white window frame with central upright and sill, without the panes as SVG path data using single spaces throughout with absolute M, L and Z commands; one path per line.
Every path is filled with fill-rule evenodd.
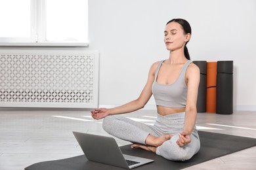
M 50 0 L 51 1 L 51 0 Z M 88 0 L 86 0 L 88 3 Z M 89 46 L 88 39 L 79 41 L 46 41 L 45 0 L 30 0 L 30 37 L 0 37 L 0 46 Z M 88 6 L 87 6 L 88 7 Z M 88 9 L 87 18 L 88 18 Z M 88 22 L 88 19 L 87 19 Z

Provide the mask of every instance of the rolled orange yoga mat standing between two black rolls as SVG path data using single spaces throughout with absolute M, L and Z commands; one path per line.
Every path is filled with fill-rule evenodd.
M 206 112 L 216 112 L 217 62 L 207 62 Z

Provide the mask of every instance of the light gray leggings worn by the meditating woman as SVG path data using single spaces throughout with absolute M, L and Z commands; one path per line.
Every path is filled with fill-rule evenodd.
M 148 135 L 159 137 L 163 134 L 171 134 L 173 137 L 158 146 L 156 154 L 167 160 L 184 161 L 192 158 L 200 149 L 200 139 L 196 127 L 190 135 L 191 142 L 189 144 L 181 147 L 176 143 L 179 133 L 183 131 L 184 115 L 184 112 L 167 116 L 158 114 L 154 126 L 135 122 L 124 116 L 112 115 L 104 118 L 102 127 L 110 135 L 131 143 L 145 144 Z

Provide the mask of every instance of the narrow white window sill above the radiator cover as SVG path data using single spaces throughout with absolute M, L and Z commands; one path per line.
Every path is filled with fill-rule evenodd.
M 88 42 L 0 42 L 0 46 L 89 46 Z

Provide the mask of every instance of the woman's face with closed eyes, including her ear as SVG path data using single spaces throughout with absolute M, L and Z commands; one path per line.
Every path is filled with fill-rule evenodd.
M 190 39 L 190 33 L 184 34 L 181 24 L 170 22 L 165 26 L 164 42 L 167 50 L 175 51 L 184 48 L 186 42 Z

